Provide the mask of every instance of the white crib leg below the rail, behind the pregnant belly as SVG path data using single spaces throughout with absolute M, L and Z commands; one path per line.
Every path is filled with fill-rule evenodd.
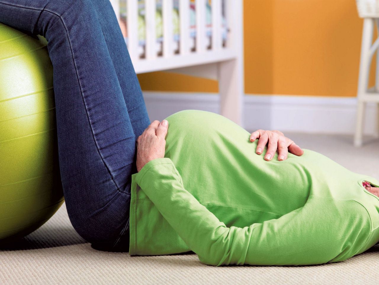
M 220 114 L 243 127 L 243 63 L 241 58 L 222 61 L 218 66 Z

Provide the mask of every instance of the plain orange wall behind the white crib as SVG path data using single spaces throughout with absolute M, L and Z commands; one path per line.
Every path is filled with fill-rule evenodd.
M 362 27 L 352 0 L 244 0 L 245 93 L 356 96 Z M 138 78 L 143 90 L 218 91 L 179 74 Z

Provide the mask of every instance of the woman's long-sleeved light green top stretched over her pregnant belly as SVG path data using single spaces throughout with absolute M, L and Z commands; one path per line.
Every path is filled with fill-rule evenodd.
M 132 176 L 130 255 L 195 252 L 208 265 L 311 265 L 379 240 L 379 198 L 353 173 L 304 150 L 285 161 L 215 113 L 169 116 L 164 158 Z

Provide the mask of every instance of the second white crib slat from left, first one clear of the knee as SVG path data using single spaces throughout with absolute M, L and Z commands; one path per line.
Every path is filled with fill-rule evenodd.
M 128 52 L 132 61 L 138 60 L 138 3 L 127 0 Z

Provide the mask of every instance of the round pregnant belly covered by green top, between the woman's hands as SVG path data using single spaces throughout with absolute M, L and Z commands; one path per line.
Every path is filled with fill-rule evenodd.
M 186 110 L 167 118 L 165 156 L 200 203 L 240 206 L 281 216 L 304 206 L 310 185 L 291 154 L 265 161 L 250 133 L 215 113 Z M 260 219 L 266 219 L 261 215 Z

